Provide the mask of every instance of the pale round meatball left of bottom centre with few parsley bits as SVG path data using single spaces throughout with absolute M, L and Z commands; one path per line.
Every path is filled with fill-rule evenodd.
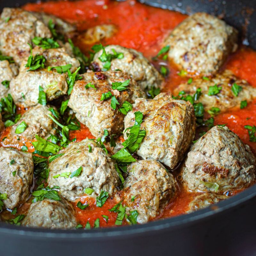
M 82 140 L 71 143 L 59 152 L 60 157 L 50 165 L 49 186 L 59 186 L 60 193 L 68 200 L 84 194 L 84 188 L 92 188 L 92 196 L 99 195 L 101 190 L 111 196 L 119 185 L 119 176 L 115 169 L 115 162 L 104 152 L 94 140 Z M 81 169 L 78 176 L 72 172 Z M 64 174 L 66 174 L 66 177 Z M 70 176 L 67 175 L 71 174 Z M 62 176 L 60 176 L 62 174 Z

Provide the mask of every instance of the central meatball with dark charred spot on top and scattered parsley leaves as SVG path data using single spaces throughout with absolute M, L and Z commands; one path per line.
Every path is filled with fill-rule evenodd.
M 118 111 L 124 101 L 134 103 L 136 98 L 145 97 L 138 84 L 127 74 L 120 71 L 89 72 L 83 79 L 76 81 L 71 92 L 68 106 L 76 112 L 77 119 L 85 124 L 93 136 L 100 137 L 104 130 L 109 134 L 118 134 L 124 128 L 124 115 Z M 114 82 L 130 80 L 124 91 L 113 90 Z M 86 84 L 94 84 L 95 89 L 85 88 Z M 111 92 L 115 95 L 119 105 L 116 109 L 111 107 L 111 98 L 100 100 L 103 93 Z

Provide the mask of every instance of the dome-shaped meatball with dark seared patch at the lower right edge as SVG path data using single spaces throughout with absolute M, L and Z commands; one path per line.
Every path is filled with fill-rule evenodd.
M 182 166 L 183 184 L 191 191 L 222 193 L 252 184 L 255 157 L 228 127 L 214 126 L 194 145 Z

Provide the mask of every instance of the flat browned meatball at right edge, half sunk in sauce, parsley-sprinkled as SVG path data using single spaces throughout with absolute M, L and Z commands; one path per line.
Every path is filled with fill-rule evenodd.
M 232 92 L 231 88 L 234 84 L 242 87 L 238 96 Z M 211 92 L 209 89 L 211 90 L 214 86 L 219 88 L 219 93 L 216 95 L 208 95 L 208 93 Z M 217 74 L 210 80 L 200 78 L 193 80 L 191 84 L 180 84 L 174 90 L 174 94 L 178 95 L 179 92 L 184 91 L 186 94 L 183 96 L 186 96 L 187 94 L 192 96 L 196 92 L 197 88 L 201 88 L 202 95 L 196 102 L 202 102 L 205 110 L 209 110 L 212 107 L 218 107 L 221 111 L 225 111 L 228 108 L 240 106 L 240 102 L 242 100 L 247 100 L 249 102 L 256 97 L 256 88 L 253 88 L 245 80 L 238 79 L 229 70 L 225 70 L 224 72 Z

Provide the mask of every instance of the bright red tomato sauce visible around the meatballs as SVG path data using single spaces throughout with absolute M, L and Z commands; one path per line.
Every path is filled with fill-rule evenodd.
M 187 15 L 157 9 L 132 0 L 120 3 L 110 0 L 39 2 L 37 4 L 27 4 L 24 9 L 53 14 L 76 24 L 80 36 L 77 37 L 75 43 L 85 54 L 88 53 L 92 45 L 84 43 L 83 31 L 100 24 L 114 24 L 118 28 L 118 32 L 111 38 L 103 40 L 102 44 L 119 44 L 134 48 L 142 52 L 156 68 L 159 68 L 160 64 L 166 65 L 169 69 L 169 75 L 165 79 L 163 92 L 172 92 L 180 83 L 188 80 L 188 77 L 179 76 L 178 69 L 167 61 L 152 60 L 152 57 L 156 56 L 162 48 L 164 37 Z M 224 68 L 232 70 L 236 76 L 247 80 L 252 86 L 256 87 L 256 52 L 250 48 L 241 46 L 236 53 L 228 58 Z M 244 128 L 244 125 L 256 124 L 256 100 L 249 103 L 244 109 L 233 108 L 219 114 L 215 117 L 215 124 L 227 124 L 256 153 L 256 143 L 249 141 L 248 131 Z M 2 139 L 3 136 L 4 134 L 2 134 Z M 70 140 L 76 138 L 76 141 L 81 141 L 86 137 L 93 138 L 88 128 L 83 124 L 81 124 L 79 131 L 71 131 L 69 136 Z M 174 171 L 176 179 L 178 175 L 178 171 Z M 189 202 L 197 193 L 189 193 L 179 181 L 178 184 L 179 189 L 176 197 L 156 219 L 180 215 L 187 211 Z M 235 193 L 238 193 L 238 191 L 233 192 L 233 194 Z M 73 203 L 76 218 L 80 224 L 84 226 L 89 221 L 91 227 L 93 227 L 94 221 L 99 218 L 100 227 L 115 225 L 117 213 L 108 211 L 116 204 L 114 199 L 108 198 L 102 208 L 96 207 L 95 199 L 90 197 L 83 196 L 79 200 L 83 204 L 89 204 L 85 210 L 80 210 L 76 207 L 77 202 Z M 108 222 L 104 220 L 102 215 L 109 217 Z

